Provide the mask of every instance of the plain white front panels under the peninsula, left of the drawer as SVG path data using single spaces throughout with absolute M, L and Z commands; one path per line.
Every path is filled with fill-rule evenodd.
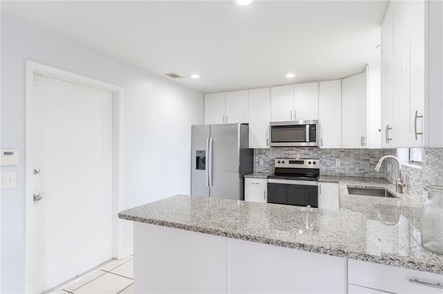
M 342 257 L 134 222 L 134 293 L 345 293 Z

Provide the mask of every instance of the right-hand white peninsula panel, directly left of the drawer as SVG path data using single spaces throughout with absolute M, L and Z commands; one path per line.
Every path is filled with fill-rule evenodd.
M 341 257 L 239 239 L 228 253 L 228 293 L 346 293 Z

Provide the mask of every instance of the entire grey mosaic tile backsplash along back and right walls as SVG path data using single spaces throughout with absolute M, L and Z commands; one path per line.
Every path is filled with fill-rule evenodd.
M 384 155 L 397 155 L 395 149 L 321 149 L 321 148 L 269 148 L 254 150 L 254 170 L 273 173 L 275 158 L 319 158 L 320 175 L 344 177 L 383 177 L 391 183 L 397 178 L 397 164 L 385 160 L 380 171 L 375 165 Z M 336 167 L 336 161 L 340 167 Z M 262 165 L 260 165 L 262 163 Z M 401 166 L 406 187 L 404 192 L 426 198 L 424 186 L 443 186 L 443 148 L 423 148 L 422 168 Z

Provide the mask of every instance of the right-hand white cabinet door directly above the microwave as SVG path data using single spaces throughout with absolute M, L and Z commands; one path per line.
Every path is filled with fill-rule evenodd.
M 318 83 L 294 86 L 294 120 L 318 119 Z

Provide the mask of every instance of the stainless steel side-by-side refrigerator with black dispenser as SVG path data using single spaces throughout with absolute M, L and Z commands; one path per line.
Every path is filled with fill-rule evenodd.
M 248 126 L 192 126 L 191 195 L 244 200 L 244 175 L 253 172 Z

